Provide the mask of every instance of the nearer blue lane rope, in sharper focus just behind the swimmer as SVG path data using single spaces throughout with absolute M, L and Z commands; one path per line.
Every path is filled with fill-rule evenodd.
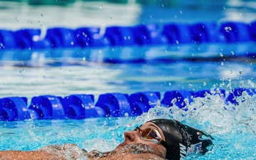
M 245 92 L 252 96 L 255 95 L 256 90 L 247 88 L 236 88 L 231 92 L 172 90 L 165 92 L 162 99 L 160 92 L 135 92 L 131 95 L 113 92 L 100 95 L 96 103 L 94 95 L 81 94 L 66 97 L 40 95 L 32 97 L 30 105 L 26 97 L 3 97 L 0 99 L 0 120 L 132 117 L 148 112 L 150 108 L 156 107 L 159 101 L 163 107 L 172 107 L 175 103 L 176 106 L 184 109 L 187 104 L 193 102 L 193 97 L 207 95 L 220 95 L 225 104 L 238 105 L 240 101 L 236 98 L 245 95 Z

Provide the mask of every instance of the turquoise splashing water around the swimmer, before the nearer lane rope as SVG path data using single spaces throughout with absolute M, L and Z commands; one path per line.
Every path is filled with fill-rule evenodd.
M 219 96 L 196 98 L 189 110 L 170 114 L 156 107 L 138 117 L 108 117 L 82 120 L 27 120 L 0 122 L 1 150 L 36 150 L 50 144 L 75 143 L 91 151 L 110 151 L 122 142 L 124 131 L 154 118 L 174 118 L 213 135 L 213 150 L 196 159 L 255 159 L 255 95 L 240 105 L 227 106 Z M 227 110 L 223 109 L 227 107 Z M 197 110 L 193 110 L 196 107 Z M 188 157 L 195 159 L 195 155 Z

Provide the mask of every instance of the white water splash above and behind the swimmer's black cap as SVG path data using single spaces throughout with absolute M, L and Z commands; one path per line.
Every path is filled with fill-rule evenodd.
M 186 100 L 184 100 L 186 102 Z M 225 102 L 222 95 L 193 98 L 182 110 L 172 107 L 155 107 L 137 117 L 135 122 L 155 118 L 173 118 L 211 134 L 215 141 L 213 151 L 205 156 L 188 159 L 255 159 L 256 95 L 242 92 L 236 97 L 238 105 Z M 175 100 L 174 100 L 175 102 Z

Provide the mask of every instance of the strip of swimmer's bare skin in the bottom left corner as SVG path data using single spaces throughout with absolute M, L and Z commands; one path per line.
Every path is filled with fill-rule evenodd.
M 0 151 L 0 160 L 27 160 L 27 159 L 61 159 L 62 157 L 56 155 L 56 154 L 49 154 L 45 151 Z

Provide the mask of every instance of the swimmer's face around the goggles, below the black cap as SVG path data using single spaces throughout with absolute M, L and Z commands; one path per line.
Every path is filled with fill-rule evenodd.
M 152 122 L 146 122 L 145 124 L 140 126 L 139 129 L 155 129 L 156 131 L 159 132 L 161 139 L 163 139 L 164 141 L 166 140 L 162 130 Z M 122 142 L 122 144 L 119 144 L 119 146 L 117 146 L 117 148 L 114 149 L 114 151 L 122 149 L 125 145 L 131 144 L 146 144 L 147 146 L 150 146 L 151 149 L 154 150 L 154 154 L 162 158 L 166 157 L 166 148 L 162 144 L 157 144 L 156 142 L 143 139 L 142 134 L 137 130 L 124 132 L 124 142 Z

